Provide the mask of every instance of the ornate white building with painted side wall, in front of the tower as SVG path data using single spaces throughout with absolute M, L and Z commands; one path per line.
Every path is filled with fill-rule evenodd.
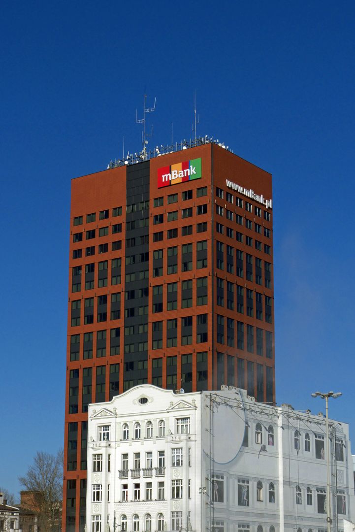
M 335 532 L 354 518 L 354 483 L 348 426 L 330 426 Z M 323 415 L 236 388 L 137 386 L 89 405 L 87 528 L 113 531 L 115 515 L 128 532 L 323 532 L 325 451 Z

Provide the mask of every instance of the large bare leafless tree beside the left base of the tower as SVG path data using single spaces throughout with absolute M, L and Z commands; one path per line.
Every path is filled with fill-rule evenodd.
M 20 483 L 32 492 L 32 510 L 38 512 L 41 530 L 60 530 L 63 487 L 63 452 L 56 456 L 39 452 L 33 459 L 26 475 L 19 477 Z

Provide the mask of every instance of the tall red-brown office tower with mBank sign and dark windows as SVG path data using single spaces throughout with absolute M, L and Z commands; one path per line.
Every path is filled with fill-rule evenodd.
M 88 404 L 144 383 L 275 401 L 271 174 L 204 142 L 72 180 L 63 528 Z

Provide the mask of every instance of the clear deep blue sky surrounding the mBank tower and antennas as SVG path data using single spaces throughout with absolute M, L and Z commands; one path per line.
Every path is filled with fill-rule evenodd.
M 276 398 L 354 420 L 355 6 L 2 4 L 0 485 L 63 446 L 70 180 L 198 134 L 272 172 Z M 355 442 L 353 443 L 355 452 Z

